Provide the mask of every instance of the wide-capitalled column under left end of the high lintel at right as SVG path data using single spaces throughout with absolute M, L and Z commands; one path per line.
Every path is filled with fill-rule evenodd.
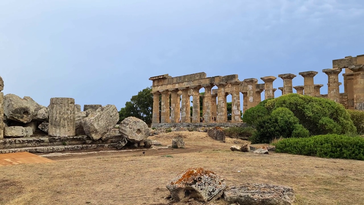
M 323 69 L 322 71 L 328 76 L 328 98 L 337 103 L 340 103 L 339 73 L 341 73 L 341 68 Z

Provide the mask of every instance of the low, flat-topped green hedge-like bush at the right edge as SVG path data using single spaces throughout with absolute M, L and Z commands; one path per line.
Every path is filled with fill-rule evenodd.
M 364 160 L 364 138 L 346 135 L 316 135 L 289 138 L 275 144 L 276 152 L 287 152 L 324 158 Z

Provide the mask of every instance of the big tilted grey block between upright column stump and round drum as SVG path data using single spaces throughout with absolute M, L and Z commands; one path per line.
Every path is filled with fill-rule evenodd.
M 82 120 L 82 126 L 87 136 L 92 140 L 102 138 L 119 121 L 119 113 L 115 105 L 100 107 Z

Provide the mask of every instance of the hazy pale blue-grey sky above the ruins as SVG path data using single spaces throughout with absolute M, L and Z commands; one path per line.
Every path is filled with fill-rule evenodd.
M 294 73 L 295 86 L 314 70 L 326 94 L 321 70 L 364 54 L 363 19 L 363 0 L 1 0 L 0 76 L 4 94 L 46 106 L 120 109 L 149 77 L 197 72 L 259 83 Z

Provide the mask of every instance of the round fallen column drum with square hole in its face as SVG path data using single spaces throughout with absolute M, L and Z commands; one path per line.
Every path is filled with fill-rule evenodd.
M 119 124 L 119 131 L 128 141 L 138 143 L 149 137 L 148 125 L 136 117 L 127 117 Z

